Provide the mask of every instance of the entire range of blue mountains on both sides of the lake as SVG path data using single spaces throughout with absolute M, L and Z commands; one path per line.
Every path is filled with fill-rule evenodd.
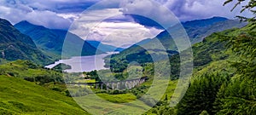
M 223 17 L 213 17 L 206 20 L 184 22 L 182 25 L 189 35 L 190 42 L 194 44 L 201 42 L 204 37 L 207 37 L 213 32 L 246 26 L 247 23 L 241 23 L 238 20 L 228 20 Z M 170 29 L 172 28 L 170 27 Z M 169 55 L 177 54 L 176 45 L 167 31 L 161 32 L 152 39 L 148 38 L 136 43 L 128 49 L 119 49 L 97 41 L 84 41 L 77 35 L 65 30 L 48 29 L 44 26 L 33 25 L 27 21 L 21 21 L 15 26 L 12 26 L 8 20 L 1 19 L 1 62 L 21 59 L 32 60 L 38 64 L 47 64 L 53 60 L 60 59 L 62 45 L 66 36 L 72 37 L 72 40 L 66 44 L 68 49 L 65 50 L 65 53 L 68 56 L 96 55 L 96 53 L 104 54 L 109 51 L 121 51 L 119 55 L 114 56 L 115 59 L 126 59 L 129 61 L 143 61 L 147 59 L 147 61 L 150 61 L 150 55 L 148 53 L 157 56 L 161 55 L 162 52 L 166 52 L 159 49 L 159 44 L 156 41 L 160 41 Z M 78 45 L 81 43 L 84 43 L 82 44 L 83 46 Z M 141 46 L 147 48 L 147 50 Z M 81 48 L 82 52 L 80 54 L 74 53 Z

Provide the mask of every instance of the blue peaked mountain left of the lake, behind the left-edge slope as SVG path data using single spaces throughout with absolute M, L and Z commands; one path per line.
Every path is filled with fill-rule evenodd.
M 26 20 L 15 24 L 15 28 L 27 36 L 32 37 L 32 40 L 36 43 L 38 48 L 51 55 L 54 54 L 60 56 L 64 42 L 67 46 L 67 49 L 65 49 L 65 55 L 67 56 L 96 55 L 96 53 L 104 53 L 101 50 L 97 50 L 95 47 L 91 46 L 90 43 L 84 41 L 77 35 L 65 30 L 55 30 L 48 29 L 44 26 L 36 26 Z M 66 36 L 69 38 L 65 39 Z M 78 54 L 76 51 L 79 49 L 82 49 L 82 52 Z

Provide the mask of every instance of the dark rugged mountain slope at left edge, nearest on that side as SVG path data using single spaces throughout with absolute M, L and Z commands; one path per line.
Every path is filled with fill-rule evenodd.
M 0 19 L 0 37 L 0 63 L 20 59 L 44 65 L 52 60 L 37 48 L 31 37 L 19 32 L 8 20 Z

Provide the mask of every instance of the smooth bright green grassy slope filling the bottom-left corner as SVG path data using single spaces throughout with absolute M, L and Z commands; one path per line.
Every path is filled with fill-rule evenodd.
M 0 76 L 0 114 L 88 114 L 73 98 L 20 78 Z

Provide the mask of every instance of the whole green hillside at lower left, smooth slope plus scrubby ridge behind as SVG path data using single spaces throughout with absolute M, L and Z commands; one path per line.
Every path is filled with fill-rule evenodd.
M 0 114 L 87 114 L 67 96 L 61 72 L 28 60 L 0 65 Z

